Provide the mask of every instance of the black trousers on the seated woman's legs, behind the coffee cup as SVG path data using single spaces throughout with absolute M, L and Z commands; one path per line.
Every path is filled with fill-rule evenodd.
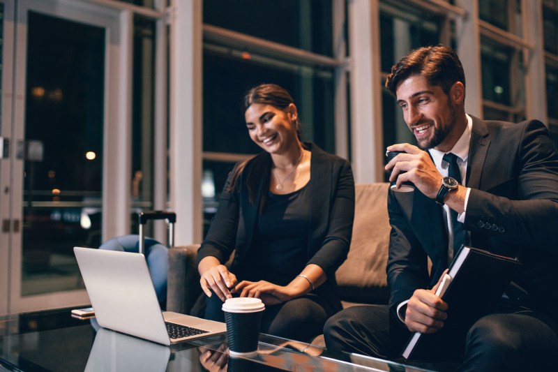
M 223 302 L 215 294 L 206 298 L 204 318 L 224 322 L 222 306 Z M 322 334 L 324 324 L 332 314 L 331 306 L 324 299 L 310 293 L 282 304 L 266 306 L 262 315 L 261 332 L 310 342 L 312 338 Z

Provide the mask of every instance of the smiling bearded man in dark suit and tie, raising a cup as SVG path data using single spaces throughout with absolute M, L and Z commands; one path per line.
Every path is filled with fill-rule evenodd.
M 448 309 L 435 295 L 439 278 L 454 247 L 470 244 L 523 265 L 497 309 L 460 341 L 460 369 L 552 368 L 558 353 L 558 155 L 548 129 L 536 120 L 513 124 L 466 114 L 465 74 L 448 47 L 409 52 L 393 66 L 386 87 L 418 144 L 388 147 L 405 153 L 386 170 L 397 187 L 411 181 L 416 189 L 389 192 L 389 306 L 355 306 L 334 315 L 324 327 L 327 347 L 395 358 L 412 332 L 437 332 Z

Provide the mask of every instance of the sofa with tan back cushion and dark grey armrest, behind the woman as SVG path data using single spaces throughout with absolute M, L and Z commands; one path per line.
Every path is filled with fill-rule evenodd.
M 351 248 L 347 260 L 335 273 L 343 306 L 386 304 L 389 218 L 389 184 L 357 184 Z M 203 296 L 195 257 L 199 244 L 169 249 L 167 310 L 200 315 Z

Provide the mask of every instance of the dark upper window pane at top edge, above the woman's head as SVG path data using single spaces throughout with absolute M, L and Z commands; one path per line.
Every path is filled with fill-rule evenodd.
M 331 0 L 204 0 L 204 23 L 331 56 Z

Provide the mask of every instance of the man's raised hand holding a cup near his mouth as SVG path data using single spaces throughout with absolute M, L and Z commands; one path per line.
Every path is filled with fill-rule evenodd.
M 389 177 L 390 181 L 397 180 L 398 188 L 403 182 L 411 181 L 428 198 L 436 198 L 442 174 L 438 172 L 428 152 L 408 143 L 392 144 L 387 150 L 407 153 L 398 154 L 386 164 L 386 170 L 393 168 Z M 406 173 L 401 174 L 402 171 Z

